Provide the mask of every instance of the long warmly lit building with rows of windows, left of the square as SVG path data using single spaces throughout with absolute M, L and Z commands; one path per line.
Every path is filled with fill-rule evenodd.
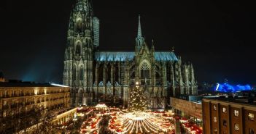
M 0 83 L 0 133 L 18 133 L 42 114 L 68 109 L 70 88 L 50 84 Z

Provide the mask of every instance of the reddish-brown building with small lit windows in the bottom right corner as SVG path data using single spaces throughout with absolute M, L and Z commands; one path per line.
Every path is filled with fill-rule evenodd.
M 247 99 L 203 99 L 203 133 L 256 133 L 256 103 Z

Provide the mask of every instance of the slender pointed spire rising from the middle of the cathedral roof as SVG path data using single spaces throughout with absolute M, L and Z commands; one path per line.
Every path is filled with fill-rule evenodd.
M 144 38 L 142 37 L 141 33 L 141 17 L 139 15 L 139 24 L 138 24 L 138 33 L 136 37 L 136 53 L 139 53 L 141 46 L 144 44 Z

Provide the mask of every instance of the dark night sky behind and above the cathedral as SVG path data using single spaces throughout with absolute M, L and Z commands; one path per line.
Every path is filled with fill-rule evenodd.
M 74 0 L 0 1 L 0 70 L 8 79 L 61 83 Z M 138 14 L 156 50 L 192 62 L 198 82 L 256 84 L 254 4 L 248 1 L 93 0 L 101 50 L 133 50 Z

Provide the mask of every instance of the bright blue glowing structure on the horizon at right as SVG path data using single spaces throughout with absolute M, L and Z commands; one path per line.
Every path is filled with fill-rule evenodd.
M 250 85 L 230 85 L 228 83 L 217 83 L 215 91 L 220 92 L 237 92 L 237 91 L 251 91 L 252 88 Z

